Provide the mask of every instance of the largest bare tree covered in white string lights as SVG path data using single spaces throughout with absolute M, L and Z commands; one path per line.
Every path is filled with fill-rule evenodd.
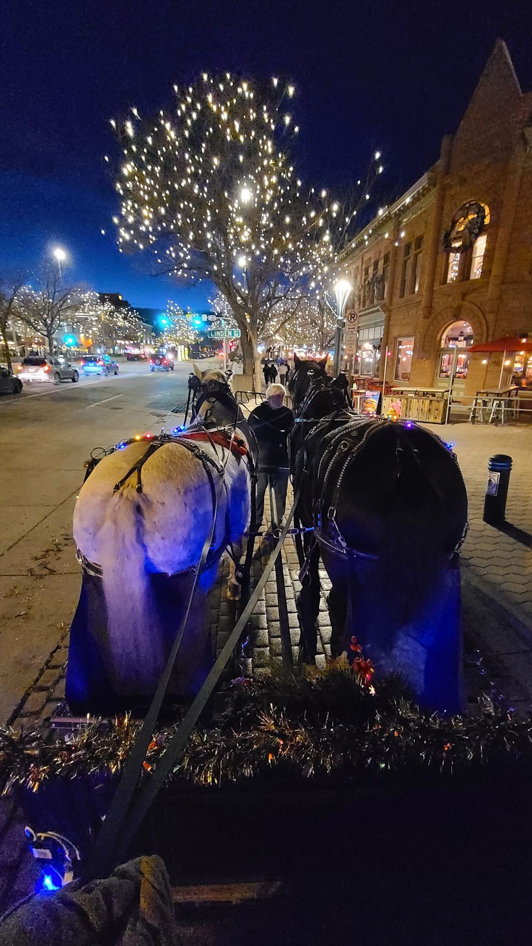
M 174 91 L 171 113 L 141 118 L 133 109 L 112 120 L 124 156 L 119 248 L 151 247 L 159 272 L 212 282 L 239 325 L 244 373 L 255 369 L 257 383 L 258 340 L 276 309 L 296 311 L 340 272 L 338 252 L 369 200 L 380 155 L 365 185 L 335 200 L 296 174 L 292 84 L 204 73 Z

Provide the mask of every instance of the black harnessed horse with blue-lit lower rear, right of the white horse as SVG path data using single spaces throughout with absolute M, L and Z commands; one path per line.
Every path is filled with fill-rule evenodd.
M 326 375 L 295 359 L 291 391 L 297 513 L 313 525 L 297 601 L 300 658 L 316 653 L 319 558 L 332 589 L 331 655 L 353 637 L 382 671 L 398 671 L 420 704 L 461 708 L 457 549 L 467 495 L 452 452 L 412 421 L 357 415 Z

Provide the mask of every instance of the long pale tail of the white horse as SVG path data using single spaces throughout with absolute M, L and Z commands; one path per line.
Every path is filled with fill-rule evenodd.
M 127 486 L 113 496 L 102 534 L 110 671 L 115 692 L 153 692 L 162 668 L 157 613 L 146 569 L 144 497 Z

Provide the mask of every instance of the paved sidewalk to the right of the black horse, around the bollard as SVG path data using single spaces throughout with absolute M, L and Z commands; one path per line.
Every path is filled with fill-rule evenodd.
M 479 641 L 485 661 L 505 677 L 509 698 L 524 705 L 532 697 L 532 549 L 526 545 L 532 536 L 532 429 L 470 424 L 434 429 L 454 442 L 468 489 L 470 530 L 461 569 L 464 627 Z M 507 531 L 482 518 L 488 459 L 496 453 L 513 460 Z

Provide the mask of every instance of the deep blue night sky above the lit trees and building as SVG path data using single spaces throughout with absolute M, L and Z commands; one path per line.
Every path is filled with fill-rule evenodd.
M 6 9 L 7 6 L 7 9 Z M 205 289 L 153 278 L 125 258 L 105 153 L 109 119 L 172 102 L 201 72 L 279 75 L 297 91 L 298 171 L 319 186 L 356 179 L 373 150 L 381 201 L 437 159 L 497 37 L 532 89 L 530 3 L 237 3 L 231 0 L 8 0 L 0 21 L 0 275 L 35 270 L 55 245 L 69 277 L 133 306 L 204 307 Z M 105 236 L 100 231 L 105 230 Z

